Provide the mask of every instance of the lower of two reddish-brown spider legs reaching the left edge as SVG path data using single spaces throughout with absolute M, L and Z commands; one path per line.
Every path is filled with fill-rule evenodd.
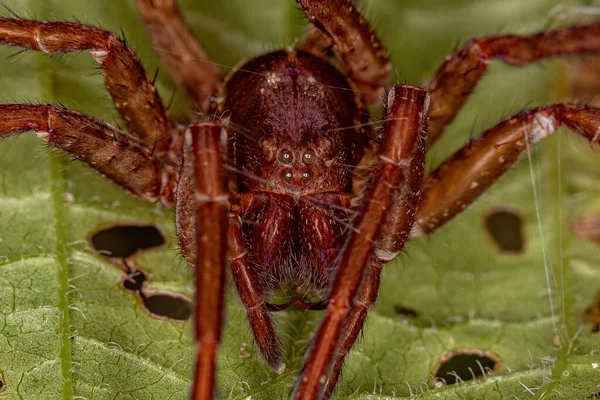
M 143 199 L 172 201 L 173 171 L 138 139 L 103 121 L 52 105 L 0 104 L 0 138 L 28 131 Z

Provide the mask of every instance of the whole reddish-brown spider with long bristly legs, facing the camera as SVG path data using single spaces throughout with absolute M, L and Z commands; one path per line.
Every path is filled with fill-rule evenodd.
M 226 258 L 257 347 L 273 368 L 281 368 L 282 349 L 271 313 L 291 304 L 325 309 L 293 396 L 329 397 L 377 297 L 382 265 L 408 239 L 458 215 L 557 127 L 591 142 L 600 136 L 596 109 L 528 110 L 424 177 L 426 149 L 493 59 L 525 65 L 598 51 L 598 25 L 474 39 L 425 88 L 395 85 L 385 95 L 387 55 L 347 0 L 299 0 L 316 27 L 308 40 L 224 79 L 173 1 L 136 4 L 155 46 L 169 50 L 161 57 L 176 82 L 214 118 L 173 123 L 140 62 L 108 31 L 1 18 L 3 44 L 49 54 L 89 50 L 129 133 L 58 106 L 11 104 L 0 106 L 0 135 L 35 131 L 133 194 L 175 203 L 180 248 L 196 267 L 193 398 L 215 393 Z M 376 131 L 366 106 L 382 97 L 383 129 Z M 272 303 L 276 289 L 290 300 Z

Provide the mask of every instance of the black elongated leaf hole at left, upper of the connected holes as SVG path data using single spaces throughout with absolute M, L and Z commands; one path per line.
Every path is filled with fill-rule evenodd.
M 112 225 L 94 233 L 91 242 L 98 252 L 126 258 L 139 250 L 164 245 L 165 237 L 152 225 Z

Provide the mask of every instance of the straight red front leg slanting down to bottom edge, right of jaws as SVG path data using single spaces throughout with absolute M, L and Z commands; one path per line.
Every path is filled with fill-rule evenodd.
M 374 269 L 373 265 L 378 263 L 373 256 L 379 246 L 379 238 L 385 230 L 390 210 L 398 202 L 404 187 L 410 185 L 407 178 L 410 177 L 413 160 L 422 160 L 424 157 L 419 154 L 425 152 L 425 121 L 429 106 L 427 92 L 413 86 L 396 85 L 389 93 L 387 104 L 388 121 L 383 132 L 379 163 L 355 217 L 354 229 L 344 245 L 325 317 L 294 389 L 295 399 L 322 398 L 326 384 L 323 377 L 338 373 L 333 371 L 333 367 L 340 356 L 339 351 L 344 351 L 342 346 L 345 338 L 348 338 L 349 348 L 350 338 L 356 339 L 362 326 L 358 318 L 355 324 L 347 316 L 357 306 L 363 306 L 359 303 L 362 297 L 359 292 L 375 286 L 372 284 L 367 287 L 364 282 Z M 407 218 L 407 230 L 412 222 L 411 218 Z M 364 311 L 366 308 L 363 314 Z M 354 325 L 352 327 L 349 324 Z M 353 331 L 345 332 L 345 326 Z

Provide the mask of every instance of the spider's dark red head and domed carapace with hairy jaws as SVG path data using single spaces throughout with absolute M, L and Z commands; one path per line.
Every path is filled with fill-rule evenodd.
M 256 58 L 226 81 L 219 113 L 264 290 L 290 280 L 319 291 L 329 284 L 349 218 L 347 166 L 368 142 L 366 114 L 349 93 L 325 60 L 292 49 Z

